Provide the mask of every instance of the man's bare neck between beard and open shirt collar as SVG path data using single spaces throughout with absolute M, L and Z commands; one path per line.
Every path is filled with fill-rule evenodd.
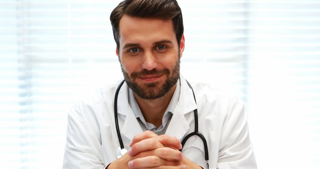
M 156 127 L 159 127 L 162 124 L 162 117 L 172 99 L 176 86 L 177 84 L 175 84 L 163 97 L 153 100 L 142 99 L 133 92 L 146 122 L 151 123 Z

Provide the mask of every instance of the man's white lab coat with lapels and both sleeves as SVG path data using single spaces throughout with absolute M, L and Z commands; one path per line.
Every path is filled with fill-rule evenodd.
M 198 109 L 199 132 L 209 149 L 209 167 L 218 169 L 256 169 L 249 138 L 244 103 L 207 84 L 191 83 L 196 95 L 180 76 L 180 97 L 173 112 L 167 135 L 180 141 L 194 131 L 194 109 Z M 103 169 L 116 160 L 120 146 L 114 118 L 114 96 L 119 85 L 101 88 L 85 97 L 68 113 L 67 143 L 63 169 Z M 142 129 L 129 103 L 128 86 L 121 87 L 118 96 L 118 120 L 124 146 Z M 197 136 L 188 139 L 182 151 L 191 161 L 206 166 L 204 146 Z

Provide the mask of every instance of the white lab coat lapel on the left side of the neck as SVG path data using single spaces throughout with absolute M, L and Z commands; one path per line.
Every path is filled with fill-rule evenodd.
M 119 127 L 121 129 L 120 133 L 127 137 L 129 140 L 132 140 L 132 138 L 135 135 L 142 133 L 143 130 L 129 105 L 128 85 L 126 83 L 122 85 L 119 91 L 118 105 L 121 105 L 118 106 L 118 114 L 125 116 L 124 125 L 122 126 L 122 129 L 119 123 Z

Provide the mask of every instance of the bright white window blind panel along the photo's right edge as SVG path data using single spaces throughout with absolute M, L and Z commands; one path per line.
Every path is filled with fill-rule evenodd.
M 248 109 L 259 168 L 319 168 L 320 1 L 252 1 Z

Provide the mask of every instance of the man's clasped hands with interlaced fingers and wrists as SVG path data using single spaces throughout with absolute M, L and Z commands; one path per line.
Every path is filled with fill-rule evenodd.
M 113 168 L 153 168 L 153 169 L 195 169 L 201 168 L 184 157 L 180 141 L 168 135 L 157 135 L 145 131 L 133 137 L 131 149 L 124 156 L 113 161 Z

